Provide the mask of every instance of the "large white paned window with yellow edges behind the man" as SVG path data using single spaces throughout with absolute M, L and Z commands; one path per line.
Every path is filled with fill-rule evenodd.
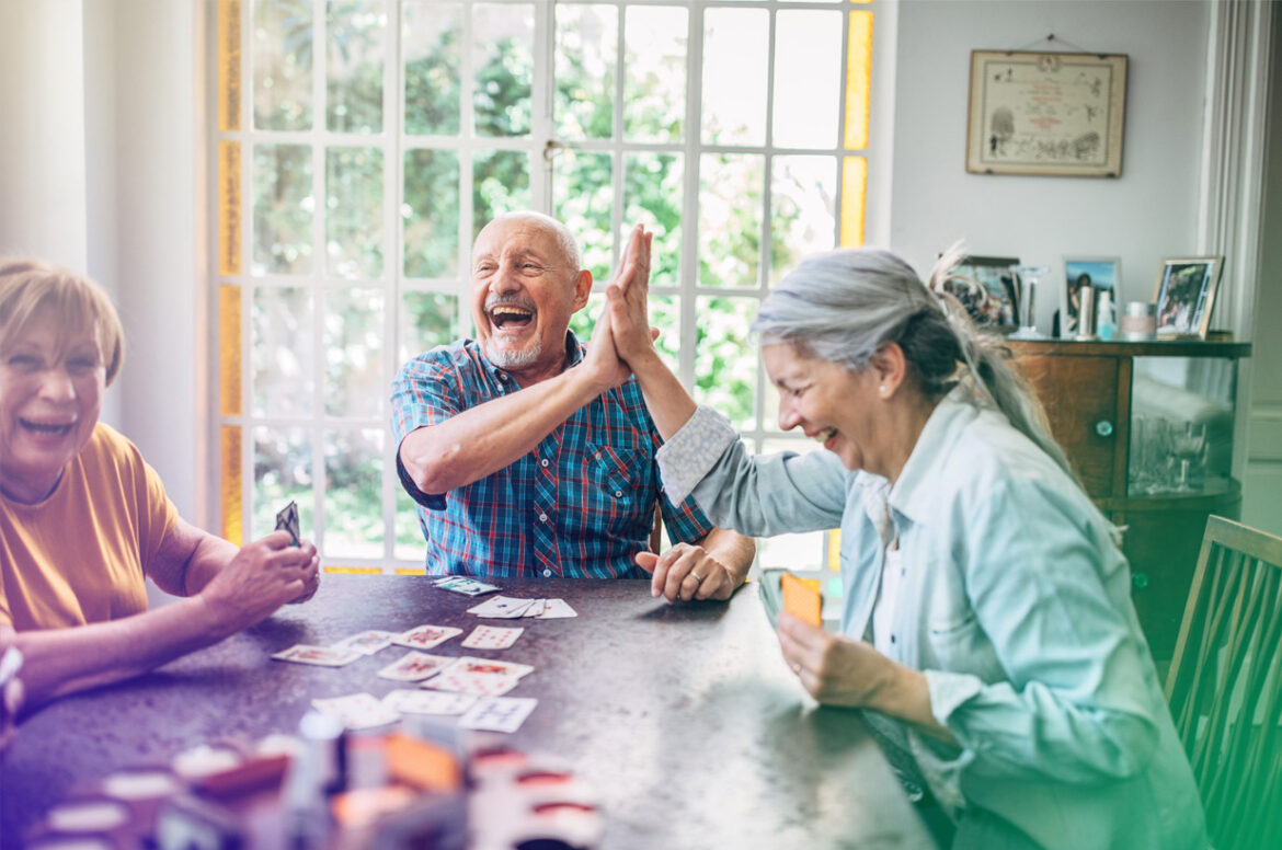
M 755 450 L 808 450 L 778 432 L 749 324 L 801 256 L 862 238 L 874 12 L 218 0 L 223 533 L 271 532 L 296 500 L 327 569 L 422 565 L 390 385 L 413 355 L 470 335 L 472 238 L 517 209 L 564 221 L 599 282 L 644 222 L 668 363 Z M 762 562 L 822 569 L 827 541 L 777 538 Z

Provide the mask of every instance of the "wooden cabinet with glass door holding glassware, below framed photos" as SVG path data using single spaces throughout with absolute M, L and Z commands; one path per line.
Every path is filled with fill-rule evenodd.
M 1008 345 L 1091 499 L 1123 527 L 1136 613 L 1154 658 L 1169 660 L 1206 517 L 1241 517 L 1242 491 L 1229 468 L 1232 400 L 1237 359 L 1250 356 L 1250 344 L 1010 340 Z M 1141 446 L 1132 438 L 1149 440 L 1153 423 L 1167 423 L 1163 432 L 1187 429 L 1206 441 L 1191 483 L 1188 474 L 1178 477 L 1170 446 L 1151 440 Z

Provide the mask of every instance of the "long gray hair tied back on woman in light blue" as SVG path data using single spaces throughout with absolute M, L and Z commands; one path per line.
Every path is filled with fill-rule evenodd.
M 762 303 L 753 331 L 763 344 L 787 342 L 851 372 L 863 371 L 883 345 L 896 342 L 928 399 L 967 383 L 976 404 L 1005 414 L 1081 486 L 1050 436 L 1037 396 L 1006 363 L 1009 349 L 1000 337 L 977 332 L 956 299 L 944 292 L 962 256 L 960 245 L 949 249 L 935 265 L 929 287 L 890 251 L 856 247 L 812 256 Z

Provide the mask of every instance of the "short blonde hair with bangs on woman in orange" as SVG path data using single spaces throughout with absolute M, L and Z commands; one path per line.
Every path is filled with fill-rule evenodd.
M 41 260 L 0 256 L 0 351 L 8 351 L 41 308 L 51 308 L 67 329 L 97 331 L 106 385 L 124 362 L 124 331 L 112 300 L 97 283 Z

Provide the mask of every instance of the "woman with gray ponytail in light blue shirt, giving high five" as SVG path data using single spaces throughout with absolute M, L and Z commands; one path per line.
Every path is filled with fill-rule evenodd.
M 610 287 L 610 329 L 667 440 L 668 496 L 745 535 L 841 528 L 840 633 L 781 613 L 779 646 L 820 703 L 870 709 L 947 815 L 937 836 L 1206 846 L 1115 529 L 955 303 L 887 251 L 801 263 L 754 331 L 779 426 L 827 451 L 750 456 L 659 360 L 645 290 Z

